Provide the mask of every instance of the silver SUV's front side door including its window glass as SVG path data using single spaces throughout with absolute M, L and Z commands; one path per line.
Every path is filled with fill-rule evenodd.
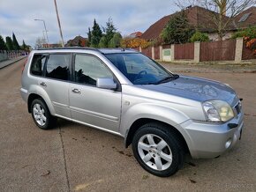
M 121 114 L 121 92 L 96 87 L 97 78 L 114 78 L 94 55 L 74 55 L 70 84 L 70 109 L 75 122 L 117 132 Z

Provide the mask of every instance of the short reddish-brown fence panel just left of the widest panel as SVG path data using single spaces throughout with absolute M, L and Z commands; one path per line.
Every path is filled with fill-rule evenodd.
M 194 43 L 176 44 L 174 46 L 175 60 L 193 60 Z

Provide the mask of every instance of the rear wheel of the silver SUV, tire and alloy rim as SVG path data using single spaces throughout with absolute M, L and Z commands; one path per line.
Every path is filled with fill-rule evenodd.
M 40 129 L 52 129 L 56 125 L 56 117 L 49 113 L 49 108 L 41 99 L 32 101 L 31 114 L 34 123 Z

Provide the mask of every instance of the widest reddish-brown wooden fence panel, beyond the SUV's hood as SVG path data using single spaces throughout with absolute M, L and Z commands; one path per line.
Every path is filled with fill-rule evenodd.
M 234 61 L 236 40 L 200 43 L 200 62 Z

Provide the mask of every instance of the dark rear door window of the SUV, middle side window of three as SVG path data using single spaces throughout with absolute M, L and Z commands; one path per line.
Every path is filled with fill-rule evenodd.
M 46 66 L 46 77 L 68 80 L 70 59 L 71 55 L 68 54 L 49 55 Z

